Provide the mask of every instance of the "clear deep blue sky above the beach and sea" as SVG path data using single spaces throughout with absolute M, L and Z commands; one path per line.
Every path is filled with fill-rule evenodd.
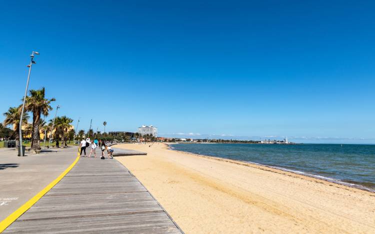
M 79 129 L 375 143 L 373 1 L 1 7 L 1 113 L 20 103 L 36 50 L 30 88 Z

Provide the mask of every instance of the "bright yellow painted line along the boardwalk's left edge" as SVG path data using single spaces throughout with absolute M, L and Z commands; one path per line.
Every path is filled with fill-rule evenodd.
M 25 204 L 23 204 L 20 208 L 18 208 L 15 212 L 10 214 L 0 223 L 0 233 L 4 231 L 9 225 L 11 225 L 18 217 L 20 217 L 23 213 L 25 213 L 32 205 L 34 205 L 41 197 L 44 196 L 50 189 L 53 188 L 78 162 L 79 156 L 74 160 L 74 162 L 66 168 L 66 170 L 61 173 L 54 181 L 52 181 L 49 185 L 47 185 L 42 191 L 36 194 L 33 198 L 28 200 Z

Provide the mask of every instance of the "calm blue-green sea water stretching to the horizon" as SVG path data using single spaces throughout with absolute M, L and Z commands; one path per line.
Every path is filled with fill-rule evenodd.
M 174 144 L 172 149 L 258 163 L 375 192 L 375 145 Z

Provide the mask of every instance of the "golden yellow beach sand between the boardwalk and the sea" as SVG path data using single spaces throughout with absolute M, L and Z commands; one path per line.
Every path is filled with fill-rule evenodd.
M 124 164 L 186 234 L 375 233 L 375 193 L 237 161 L 125 144 Z

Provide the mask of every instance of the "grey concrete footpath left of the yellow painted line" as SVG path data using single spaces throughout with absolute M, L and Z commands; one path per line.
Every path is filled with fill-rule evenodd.
M 18 157 L 0 149 L 0 221 L 56 179 L 77 157 L 77 147 L 53 149 Z

